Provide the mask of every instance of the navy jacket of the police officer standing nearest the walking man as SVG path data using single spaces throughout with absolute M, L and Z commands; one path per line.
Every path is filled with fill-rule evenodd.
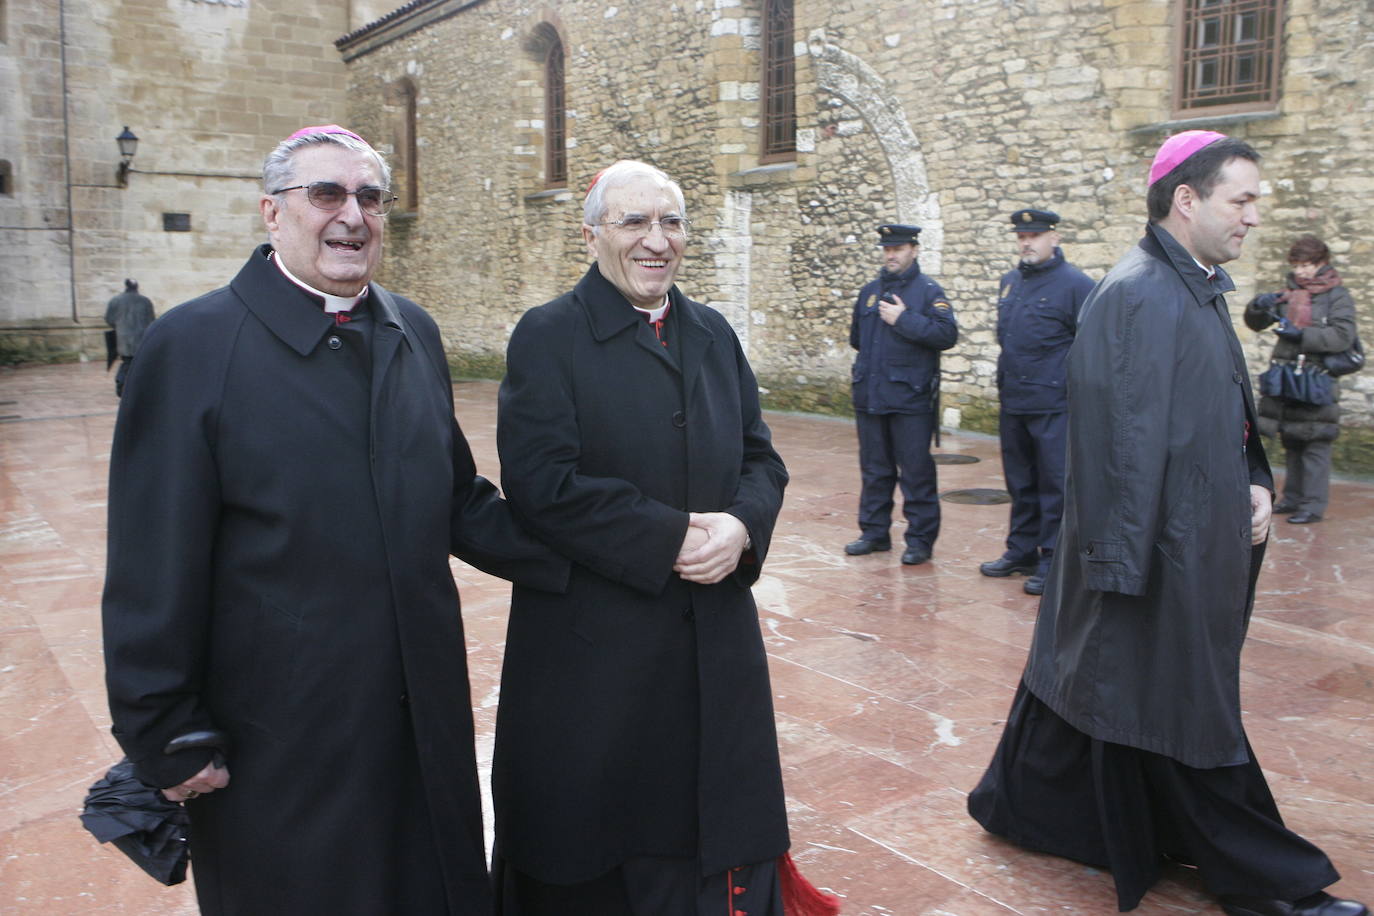
M 1063 251 L 1021 264 L 1002 277 L 998 297 L 998 393 L 1006 413 L 1068 409 L 1068 360 L 1079 310 L 1092 291 L 1087 273 Z

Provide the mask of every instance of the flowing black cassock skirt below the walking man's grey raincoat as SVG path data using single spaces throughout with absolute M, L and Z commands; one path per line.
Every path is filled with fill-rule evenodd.
M 1022 683 L 969 813 L 989 832 L 1107 869 L 1129 911 L 1165 857 L 1195 865 L 1217 897 L 1294 901 L 1340 880 L 1326 854 L 1283 825 L 1250 751 L 1194 769 L 1088 737 Z

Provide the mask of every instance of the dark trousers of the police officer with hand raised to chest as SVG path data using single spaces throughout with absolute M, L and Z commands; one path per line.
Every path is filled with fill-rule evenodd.
M 859 530 L 886 540 L 892 527 L 892 492 L 901 483 L 907 547 L 934 547 L 940 534 L 936 461 L 930 457 L 934 413 L 856 413 L 859 428 Z

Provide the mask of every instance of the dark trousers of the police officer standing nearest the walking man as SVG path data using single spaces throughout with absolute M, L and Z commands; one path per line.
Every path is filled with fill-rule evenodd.
M 1006 413 L 998 420 L 1002 475 L 1011 494 L 1007 555 L 1039 556 L 1050 566 L 1063 518 L 1063 466 L 1069 450 L 1068 413 Z

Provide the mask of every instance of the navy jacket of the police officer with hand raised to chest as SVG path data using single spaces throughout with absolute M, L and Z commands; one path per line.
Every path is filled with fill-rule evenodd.
M 896 293 L 907 310 L 896 324 L 878 314 L 878 299 Z M 940 394 L 940 350 L 959 339 L 954 309 L 940 284 L 912 262 L 899 275 L 882 271 L 855 301 L 849 346 L 855 411 L 861 413 L 930 413 Z

